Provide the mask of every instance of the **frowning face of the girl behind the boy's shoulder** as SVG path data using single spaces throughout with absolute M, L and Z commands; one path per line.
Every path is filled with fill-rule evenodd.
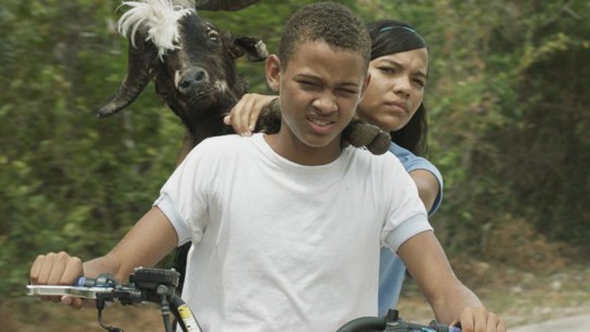
M 385 131 L 403 128 L 424 99 L 428 50 L 418 48 L 374 59 L 370 83 L 356 116 Z

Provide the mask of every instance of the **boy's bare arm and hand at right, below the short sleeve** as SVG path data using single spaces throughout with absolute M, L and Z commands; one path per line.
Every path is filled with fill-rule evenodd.
M 487 311 L 473 292 L 455 275 L 433 232 L 423 232 L 403 242 L 398 254 L 430 304 L 438 321 L 460 321 L 463 331 L 506 331 L 504 322 Z

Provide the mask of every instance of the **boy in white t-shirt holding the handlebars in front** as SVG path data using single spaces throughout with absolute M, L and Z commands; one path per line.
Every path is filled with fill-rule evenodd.
M 304 7 L 266 64 L 280 94 L 280 132 L 203 141 L 108 254 L 84 264 L 63 252 L 39 256 L 31 281 L 72 284 L 103 272 L 126 281 L 192 240 L 182 297 L 205 331 L 331 332 L 376 315 L 385 242 L 441 322 L 505 331 L 452 274 L 396 157 L 340 145 L 369 82 L 369 51 L 349 9 Z

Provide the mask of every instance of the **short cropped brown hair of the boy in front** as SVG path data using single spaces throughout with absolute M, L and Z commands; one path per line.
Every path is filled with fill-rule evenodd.
M 365 24 L 347 7 L 319 2 L 303 7 L 285 23 L 279 45 L 279 59 L 286 68 L 297 46 L 321 40 L 330 47 L 358 51 L 368 67 L 370 37 Z

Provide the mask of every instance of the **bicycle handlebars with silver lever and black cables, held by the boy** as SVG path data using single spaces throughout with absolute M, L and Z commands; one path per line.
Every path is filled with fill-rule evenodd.
M 177 323 L 184 332 L 202 332 L 194 315 L 176 294 L 180 273 L 173 270 L 137 268 L 129 276 L 129 284 L 116 283 L 109 274 L 97 278 L 81 276 L 72 286 L 27 285 L 28 296 L 62 296 L 94 299 L 98 324 L 108 332 L 122 332 L 103 321 L 103 310 L 107 305 L 160 305 L 164 331 L 173 332 Z M 175 322 L 170 321 L 170 313 Z M 428 325 L 404 321 L 397 310 L 389 310 L 386 317 L 362 317 L 342 325 L 337 332 L 461 332 L 459 328 L 439 324 L 433 320 Z

